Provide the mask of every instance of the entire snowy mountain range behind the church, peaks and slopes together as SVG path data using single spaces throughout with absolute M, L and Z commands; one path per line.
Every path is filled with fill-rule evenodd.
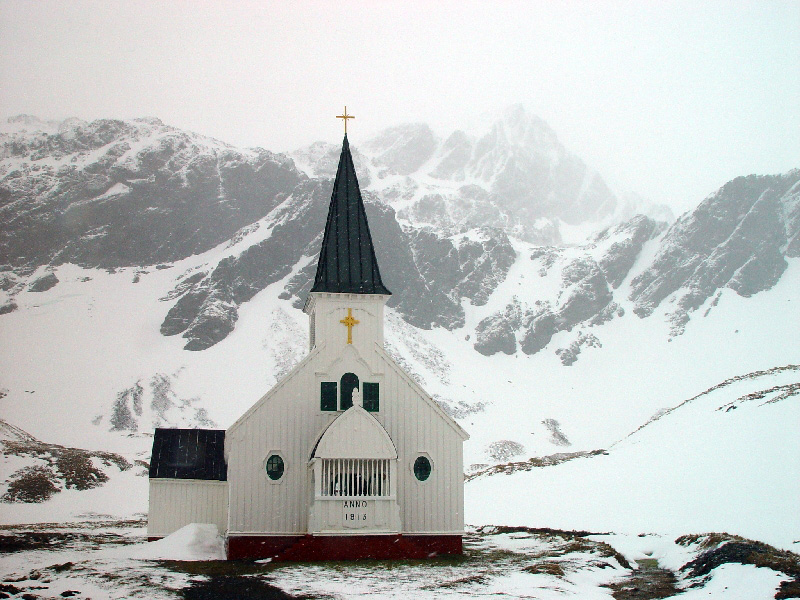
M 155 426 L 225 427 L 304 356 L 338 147 L 290 158 L 156 119 L 5 131 L 0 418 L 48 464 L 47 444 L 135 464 Z M 721 381 L 800 364 L 800 170 L 737 178 L 670 224 L 631 215 L 646 203 L 518 108 L 477 134 L 392 128 L 353 154 L 393 291 L 388 349 L 470 432 L 472 473 L 609 449 Z M 794 400 L 759 413 L 776 444 Z M 713 414 L 692 419 L 727 426 Z M 663 431 L 646 445 L 678 435 Z M 0 494 L 46 466 L 25 460 Z M 101 510 L 113 489 L 144 510 L 138 471 L 110 464 L 108 483 L 9 518 L 67 517 L 78 493 Z

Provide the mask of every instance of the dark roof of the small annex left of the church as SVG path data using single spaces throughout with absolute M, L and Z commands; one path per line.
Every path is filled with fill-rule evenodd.
M 225 430 L 156 429 L 150 479 L 227 481 Z

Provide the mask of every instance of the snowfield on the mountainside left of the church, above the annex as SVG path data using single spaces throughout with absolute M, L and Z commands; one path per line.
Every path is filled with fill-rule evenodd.
M 286 310 L 277 299 L 282 286 L 273 289 L 278 283 L 241 308 L 240 335 L 204 352 L 184 351 L 183 338 L 159 332 L 170 304 L 158 298 L 193 266 L 187 260 L 140 273 L 132 283 L 134 269 L 110 274 L 64 265 L 51 290 L 18 294 L 20 309 L 0 323 L 3 418 L 44 441 L 131 451 L 142 444 L 108 431 L 111 406 L 121 391 L 164 374 L 178 401 L 198 398 L 220 426 L 233 422 L 275 383 L 286 353 L 276 358 L 270 349 L 281 336 L 302 338 L 292 342 L 305 349 L 305 316 Z M 284 317 L 277 332 L 265 319 L 276 311 Z M 142 431 L 152 428 L 142 423 Z

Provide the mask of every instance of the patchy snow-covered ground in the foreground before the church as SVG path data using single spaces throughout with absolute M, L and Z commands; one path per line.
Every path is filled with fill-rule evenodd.
M 685 590 L 682 598 L 767 600 L 788 580 L 771 568 L 738 563 L 723 564 L 706 577 L 688 577 L 681 567 L 700 548 L 652 535 L 587 537 L 487 528 L 468 532 L 463 557 L 299 564 L 214 561 L 221 540 L 213 526 L 189 525 L 158 542 L 146 543 L 143 535 L 141 523 L 4 528 L 0 585 L 17 595 L 95 600 L 274 598 L 276 588 L 334 599 L 600 600 L 633 587 L 662 592 L 642 597 Z M 11 549 L 19 539 L 28 547 Z

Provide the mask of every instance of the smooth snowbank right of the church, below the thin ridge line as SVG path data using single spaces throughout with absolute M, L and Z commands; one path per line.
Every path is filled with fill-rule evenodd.
M 779 391 L 748 399 L 793 385 L 796 395 L 782 400 Z M 798 392 L 800 368 L 745 379 L 665 414 L 607 455 L 480 477 L 467 483 L 466 520 L 673 537 L 725 531 L 797 551 Z

